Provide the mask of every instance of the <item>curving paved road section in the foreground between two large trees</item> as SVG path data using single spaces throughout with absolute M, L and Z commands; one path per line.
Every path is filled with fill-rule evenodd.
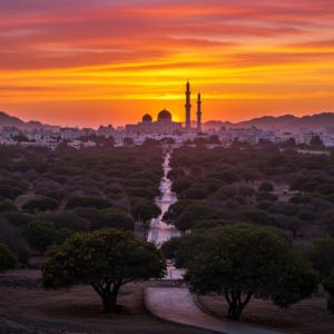
M 287 333 L 214 317 L 196 305 L 194 296 L 186 288 L 148 287 L 146 307 L 153 315 L 160 318 L 225 334 Z

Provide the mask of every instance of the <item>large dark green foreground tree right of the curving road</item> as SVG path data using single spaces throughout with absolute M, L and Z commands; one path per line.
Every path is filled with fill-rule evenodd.
M 235 321 L 253 296 L 286 308 L 317 289 L 317 273 L 271 229 L 222 227 L 207 236 L 198 253 L 184 276 L 190 293 L 224 295 L 228 318 Z

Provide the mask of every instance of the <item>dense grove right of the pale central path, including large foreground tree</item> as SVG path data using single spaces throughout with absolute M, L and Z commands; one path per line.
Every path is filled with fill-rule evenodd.
M 318 145 L 316 139 L 313 144 Z M 272 144 L 254 147 L 236 140 L 232 148 L 209 149 L 199 144 L 195 148 L 185 145 L 171 153 L 168 177 L 174 180 L 171 190 L 178 202 L 170 205 L 163 220 L 184 234 L 165 242 L 161 252 L 166 258 L 174 259 L 177 267 L 187 268 L 190 292 L 225 295 L 230 318 L 239 318 L 253 295 L 287 307 L 310 296 L 317 288 L 318 279 L 331 294 L 328 308 L 334 311 L 334 156 L 299 154 L 294 150 L 295 143 L 282 147 L 285 150 L 281 153 Z M 278 187 L 289 195 L 275 191 Z M 254 242 L 257 234 L 262 235 L 262 242 L 271 244 L 272 254 L 261 242 Z M 294 249 L 293 239 L 303 239 L 306 235 L 323 238 L 314 238 L 307 252 L 304 246 Z M 284 245 L 284 249 L 275 249 L 275 238 L 284 240 L 277 244 L 278 248 Z M 234 247 L 228 249 L 230 243 Z M 264 258 L 263 255 L 273 256 L 272 259 L 252 263 L 256 259 L 257 246 L 261 247 L 258 259 Z M 265 254 L 262 249 L 266 249 Z M 268 271 L 267 262 L 277 264 L 276 268 Z M 284 263 L 294 263 L 296 275 L 305 275 L 307 284 L 297 286 L 289 281 L 291 273 Z M 254 267 L 248 268 L 248 265 Z M 232 274 L 234 268 L 240 268 L 237 275 Z M 275 269 L 281 276 L 273 274 Z M 249 273 L 252 277 L 247 277 Z M 261 273 L 259 277 L 255 273 Z M 234 275 L 235 283 L 230 281 Z M 265 278 L 266 275 L 272 281 Z M 284 278 L 284 275 L 288 276 Z M 275 288 L 268 286 L 274 277 L 282 278 L 284 285 L 277 282 Z M 243 286 L 238 286 L 238 282 Z M 277 295 L 282 298 L 277 299 Z

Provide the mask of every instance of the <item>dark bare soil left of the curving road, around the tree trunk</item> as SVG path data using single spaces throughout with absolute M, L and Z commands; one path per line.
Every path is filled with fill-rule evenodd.
M 39 278 L 40 271 L 17 269 L 0 275 L 2 278 Z M 175 284 L 175 282 L 174 282 Z M 1 284 L 0 284 L 1 285 Z M 119 333 L 119 334 L 205 334 L 208 331 L 177 326 L 154 318 L 145 308 L 144 288 L 171 286 L 171 282 L 127 284 L 117 303 L 126 306 L 125 314 L 106 314 L 99 295 L 91 287 L 70 291 L 0 287 L 0 333 Z M 174 286 L 175 287 L 175 286 Z

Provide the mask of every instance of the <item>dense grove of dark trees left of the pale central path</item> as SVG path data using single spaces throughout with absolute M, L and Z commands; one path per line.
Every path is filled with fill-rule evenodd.
M 0 243 L 20 263 L 29 263 L 29 248 L 43 255 L 75 233 L 135 230 L 135 220 L 161 213 L 154 200 L 164 176 L 163 149 L 150 140 L 135 147 L 97 144 L 53 151 L 0 147 Z

